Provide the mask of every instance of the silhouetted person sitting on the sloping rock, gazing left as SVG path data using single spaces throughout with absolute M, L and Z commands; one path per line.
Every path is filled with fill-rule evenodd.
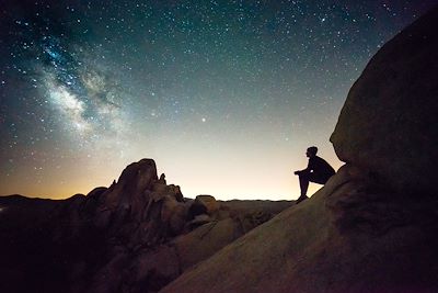
M 325 184 L 328 178 L 335 174 L 335 170 L 328 165 L 323 158 L 316 156 L 318 147 L 309 147 L 306 151 L 306 156 L 309 158 L 308 168 L 304 170 L 296 171 L 300 178 L 301 195 L 297 200 L 297 203 L 308 199 L 309 182 L 318 184 Z

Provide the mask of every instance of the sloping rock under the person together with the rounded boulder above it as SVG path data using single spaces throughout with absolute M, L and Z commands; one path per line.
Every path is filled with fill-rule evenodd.
M 160 292 L 438 292 L 438 8 L 370 60 L 319 192 Z

